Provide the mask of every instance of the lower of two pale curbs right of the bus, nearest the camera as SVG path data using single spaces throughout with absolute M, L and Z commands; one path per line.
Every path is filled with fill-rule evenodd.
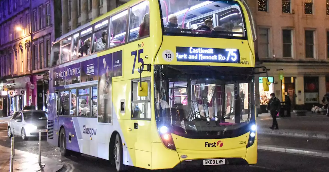
M 329 152 L 320 151 L 320 150 L 299 149 L 299 148 L 292 148 L 292 147 L 280 147 L 280 146 L 273 146 L 273 145 L 258 145 L 257 149 L 329 158 Z

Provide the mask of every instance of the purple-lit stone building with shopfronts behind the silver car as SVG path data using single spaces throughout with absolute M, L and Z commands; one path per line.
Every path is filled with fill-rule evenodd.
M 0 0 L 0 117 L 35 105 L 46 110 L 53 0 Z

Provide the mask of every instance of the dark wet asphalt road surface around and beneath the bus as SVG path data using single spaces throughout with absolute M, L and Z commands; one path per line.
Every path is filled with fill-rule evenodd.
M 0 145 L 10 147 L 10 139 L 7 137 L 7 131 L 0 130 Z M 23 141 L 19 137 L 15 138 L 15 148 L 22 151 L 38 154 L 38 139 Z M 70 172 L 105 172 L 115 171 L 111 164 L 106 161 L 87 155 L 78 157 L 61 157 L 59 148 L 49 145 L 46 138 L 41 141 L 42 156 L 62 161 L 66 169 Z M 329 171 L 329 159 L 312 156 L 295 155 L 281 152 L 258 151 L 258 163 L 255 166 L 217 166 L 206 171 L 224 171 L 224 172 L 325 172 Z M 67 170 L 68 169 L 68 170 Z M 129 171 L 148 171 L 143 169 L 132 168 Z M 168 170 L 171 171 L 171 170 Z M 203 169 L 190 168 L 173 171 L 205 171 Z

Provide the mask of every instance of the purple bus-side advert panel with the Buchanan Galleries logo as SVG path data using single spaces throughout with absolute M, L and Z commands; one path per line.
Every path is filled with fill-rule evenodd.
M 98 77 L 98 58 L 81 62 L 81 82 L 94 81 Z

